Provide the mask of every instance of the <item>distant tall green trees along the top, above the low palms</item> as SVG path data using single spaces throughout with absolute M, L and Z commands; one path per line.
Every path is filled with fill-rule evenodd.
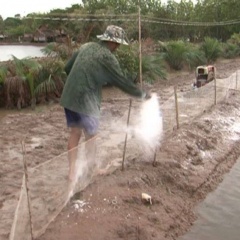
M 138 2 L 83 0 L 66 9 L 53 9 L 47 14 L 29 13 L 23 18 L 16 14 L 16 18 L 5 20 L 0 16 L 0 34 L 17 39 L 25 33 L 34 33 L 45 24 L 49 29 L 64 30 L 71 38 L 84 42 L 113 23 L 124 27 L 130 39 L 137 39 Z M 234 33 L 239 33 L 239 9 L 238 0 L 198 0 L 196 4 L 191 0 L 181 0 L 179 3 L 168 0 L 166 4 L 159 0 L 141 0 L 142 37 L 201 42 L 208 36 L 226 41 Z M 53 21 L 53 18 L 59 19 Z M 74 20 L 76 18 L 88 20 Z

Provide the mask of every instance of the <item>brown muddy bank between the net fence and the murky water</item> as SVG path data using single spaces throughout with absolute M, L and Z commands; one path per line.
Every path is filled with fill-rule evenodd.
M 124 172 L 99 177 L 82 192 L 85 205 L 71 201 L 39 240 L 176 239 L 239 157 L 239 107 L 233 95 L 182 126 L 163 141 L 157 166 L 133 158 Z M 152 204 L 142 202 L 142 193 Z

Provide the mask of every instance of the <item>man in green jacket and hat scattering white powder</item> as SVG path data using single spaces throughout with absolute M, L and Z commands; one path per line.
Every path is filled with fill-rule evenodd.
M 83 44 L 67 63 L 68 74 L 60 104 L 64 107 L 67 126 L 70 128 L 68 139 L 69 180 L 76 178 L 75 163 L 77 146 L 82 130 L 86 140 L 93 138 L 98 130 L 102 86 L 110 83 L 122 91 L 139 98 L 149 95 L 124 77 L 120 65 L 112 52 L 120 44 L 128 45 L 122 28 L 110 25 L 102 35 L 97 36 L 99 42 Z M 95 144 L 88 141 L 87 157 L 94 159 Z M 91 164 L 91 163 L 90 163 Z

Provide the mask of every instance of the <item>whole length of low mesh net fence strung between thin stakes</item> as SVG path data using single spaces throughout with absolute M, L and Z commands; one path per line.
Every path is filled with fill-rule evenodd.
M 218 103 L 225 100 L 228 97 L 229 90 L 239 90 L 238 76 L 239 73 L 236 72 L 228 78 L 217 79 L 216 85 L 215 82 L 212 81 L 201 88 L 191 89 L 186 92 L 177 92 L 180 125 L 192 121 L 198 115 L 207 111 L 215 102 Z M 126 106 L 127 104 L 128 102 L 126 102 Z M 136 116 L 140 106 L 141 104 L 139 102 L 134 102 L 130 117 L 130 126 L 136 123 Z M 163 115 L 164 134 L 171 133 L 177 125 L 174 92 L 172 97 L 161 105 L 161 111 Z M 126 111 L 121 118 L 114 119 L 114 123 L 105 123 L 107 126 L 106 129 L 108 130 L 101 132 L 102 135 L 100 138 L 96 139 L 98 145 L 96 162 L 99 163 L 99 168 L 114 171 L 121 166 L 124 139 L 127 131 L 127 116 L 128 111 Z M 117 130 L 116 125 L 118 126 Z M 109 132 L 111 132 L 111 135 Z M 128 133 L 126 158 L 132 158 L 133 155 L 141 156 L 143 151 L 141 150 L 141 146 L 134 138 L 134 134 L 131 134 L 131 132 Z M 109 151 L 110 148 L 111 151 Z M 80 144 L 77 162 L 79 181 L 75 185 L 74 192 L 83 190 L 94 181 L 94 177 L 86 161 L 85 149 L 86 144 Z M 67 177 L 67 154 L 68 153 L 65 152 L 35 168 L 28 169 L 30 206 L 27 201 L 25 178 L 23 178 L 17 206 L 13 204 L 12 209 L 6 213 L 7 215 L 5 214 L 8 220 L 12 219 L 12 228 L 9 235 L 10 240 L 31 239 L 29 208 L 32 219 L 32 234 L 34 238 L 36 238 L 44 233 L 49 224 L 62 211 L 64 206 L 66 206 L 70 197 Z M 3 209 L 0 209 L 0 211 L 0 223 L 1 226 L 4 226 Z

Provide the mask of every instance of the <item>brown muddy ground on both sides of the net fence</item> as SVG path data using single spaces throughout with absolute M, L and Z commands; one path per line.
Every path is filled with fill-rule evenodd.
M 230 76 L 239 63 L 240 59 L 217 62 L 217 78 Z M 174 85 L 186 91 L 193 79 L 194 72 L 175 72 L 168 81 L 145 87 L 157 91 L 164 104 Z M 223 102 L 164 135 L 154 166 L 152 156 L 145 157 L 130 142 L 125 170 L 119 165 L 111 173 L 95 177 L 38 240 L 170 240 L 183 235 L 197 217 L 197 204 L 217 187 L 240 155 L 238 95 L 230 91 Z M 119 128 L 119 119 L 126 122 L 128 97 L 105 88 L 103 100 L 98 140 L 108 161 L 119 160 L 125 135 L 110 130 Z M 23 151 L 28 168 L 34 169 L 66 151 L 68 130 L 62 109 L 53 104 L 35 112 L 7 114 L 1 118 L 0 136 L 0 239 L 5 240 L 19 200 Z M 67 165 L 62 171 L 67 174 Z M 142 193 L 149 194 L 152 201 L 143 201 Z

